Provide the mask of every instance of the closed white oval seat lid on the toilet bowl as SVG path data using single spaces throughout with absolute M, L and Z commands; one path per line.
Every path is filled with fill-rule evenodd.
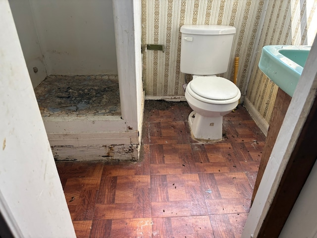
M 222 77 L 197 77 L 190 82 L 190 87 L 197 95 L 211 100 L 228 100 L 239 94 L 238 87 Z

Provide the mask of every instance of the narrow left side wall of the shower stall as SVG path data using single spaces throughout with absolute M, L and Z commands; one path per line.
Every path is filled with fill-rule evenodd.
M 9 3 L 14 16 L 14 23 L 18 31 L 24 59 L 28 67 L 33 88 L 35 88 L 45 79 L 47 73 L 35 29 L 31 5 L 28 0 L 9 0 Z M 38 72 L 35 73 L 33 67 L 37 67 Z

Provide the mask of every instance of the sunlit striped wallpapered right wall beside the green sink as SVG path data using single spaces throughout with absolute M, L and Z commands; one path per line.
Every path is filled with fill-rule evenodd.
M 265 45 L 312 45 L 317 32 L 317 0 L 268 1 L 247 98 L 269 122 L 278 87 L 258 68 Z

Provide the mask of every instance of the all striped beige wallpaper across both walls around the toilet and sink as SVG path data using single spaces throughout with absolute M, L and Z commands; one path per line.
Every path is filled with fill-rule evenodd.
M 228 71 L 240 58 L 237 85 L 267 122 L 277 87 L 258 68 L 265 45 L 310 45 L 317 32 L 317 0 L 142 0 L 142 44 L 161 44 L 165 52 L 143 54 L 147 96 L 184 95 L 179 29 L 184 24 L 237 28 Z M 263 22 L 261 22 L 263 19 Z M 253 59 L 253 60 L 252 60 Z

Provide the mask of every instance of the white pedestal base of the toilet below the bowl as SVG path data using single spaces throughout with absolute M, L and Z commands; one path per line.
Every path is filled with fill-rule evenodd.
M 193 111 L 189 114 L 188 123 L 193 136 L 198 140 L 222 139 L 222 116 L 204 117 Z

